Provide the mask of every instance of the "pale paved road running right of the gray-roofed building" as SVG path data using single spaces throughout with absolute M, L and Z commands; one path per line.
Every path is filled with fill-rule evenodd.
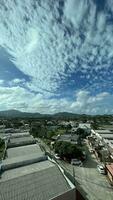
M 41 144 L 47 151 L 49 147 L 41 141 Z M 87 193 L 89 200 L 113 200 L 113 187 L 106 175 L 102 175 L 97 171 L 97 160 L 86 147 L 87 159 L 83 167 L 72 166 L 71 164 L 59 160 L 61 167 L 64 167 L 70 174 L 75 171 L 75 179 L 80 184 L 81 188 Z

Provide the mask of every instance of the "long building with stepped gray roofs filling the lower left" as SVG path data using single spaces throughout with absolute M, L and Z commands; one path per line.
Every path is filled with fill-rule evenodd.
M 8 145 L 0 164 L 0 200 L 75 200 L 75 186 L 64 170 L 28 138 L 33 140 L 30 135 L 9 140 L 14 145 Z

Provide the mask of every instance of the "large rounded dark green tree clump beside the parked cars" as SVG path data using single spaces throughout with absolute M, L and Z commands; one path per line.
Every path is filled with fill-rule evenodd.
M 62 159 L 71 160 L 82 157 L 82 150 L 69 142 L 56 142 L 54 148 L 55 153 L 58 153 Z

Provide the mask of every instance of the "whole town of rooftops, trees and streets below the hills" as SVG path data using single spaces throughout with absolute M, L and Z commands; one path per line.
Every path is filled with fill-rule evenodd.
M 0 184 L 1 200 L 113 199 L 113 117 L 2 117 Z

